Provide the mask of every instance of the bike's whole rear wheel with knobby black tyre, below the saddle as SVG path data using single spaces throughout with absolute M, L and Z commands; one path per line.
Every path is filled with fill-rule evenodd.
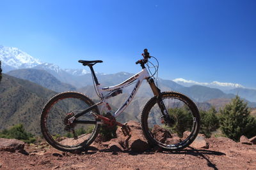
M 96 118 L 88 113 L 68 124 L 73 117 L 94 103 L 77 92 L 63 92 L 52 97 L 42 110 L 40 125 L 46 141 L 58 150 L 72 152 L 88 147 L 99 133 L 100 125 Z M 98 108 L 92 110 L 99 114 Z

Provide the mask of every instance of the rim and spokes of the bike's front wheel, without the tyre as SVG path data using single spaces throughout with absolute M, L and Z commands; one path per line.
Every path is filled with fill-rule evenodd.
M 161 110 L 157 103 L 149 108 L 147 131 L 158 145 L 163 148 L 181 148 L 188 145 L 195 136 L 196 117 L 193 108 L 182 98 L 164 97 L 163 102 L 172 119 L 172 125 L 164 123 Z

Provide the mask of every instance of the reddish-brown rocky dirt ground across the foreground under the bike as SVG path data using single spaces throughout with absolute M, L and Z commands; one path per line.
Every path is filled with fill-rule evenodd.
M 236 143 L 223 137 L 209 138 L 202 144 L 202 138 L 191 145 L 194 148 L 177 152 L 118 149 L 115 139 L 93 143 L 88 152 L 76 154 L 55 150 L 45 141 L 22 146 L 11 139 L 16 145 L 10 146 L 0 138 L 0 169 L 256 169 L 256 145 L 248 139 Z

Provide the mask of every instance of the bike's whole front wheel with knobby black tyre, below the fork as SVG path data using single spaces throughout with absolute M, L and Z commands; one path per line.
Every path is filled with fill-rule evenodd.
M 145 138 L 150 145 L 165 150 L 180 150 L 189 146 L 200 128 L 200 114 L 196 104 L 178 92 L 162 92 L 160 96 L 172 123 L 165 121 L 159 108 L 159 98 L 152 97 L 141 115 Z

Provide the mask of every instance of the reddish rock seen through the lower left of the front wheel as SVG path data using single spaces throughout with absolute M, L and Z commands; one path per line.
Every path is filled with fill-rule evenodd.
M 166 129 L 163 129 L 159 125 L 154 125 L 152 134 L 154 135 L 154 138 L 156 138 L 157 141 L 160 141 L 161 143 L 164 143 L 167 138 L 172 138 L 170 132 Z

